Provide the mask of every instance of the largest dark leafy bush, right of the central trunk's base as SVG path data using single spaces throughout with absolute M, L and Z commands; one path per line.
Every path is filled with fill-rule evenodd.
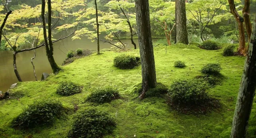
M 168 103 L 185 114 L 206 113 L 219 107 L 219 102 L 209 98 L 208 87 L 207 83 L 198 80 L 175 81 L 168 90 Z

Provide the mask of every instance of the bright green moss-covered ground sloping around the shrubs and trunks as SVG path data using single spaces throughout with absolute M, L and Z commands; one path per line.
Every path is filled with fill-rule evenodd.
M 199 70 L 206 63 L 219 62 L 223 67 L 225 80 L 221 86 L 209 90 L 209 93 L 221 100 L 222 109 L 208 115 L 183 115 L 168 108 L 164 99 L 145 99 L 138 101 L 133 94 L 135 84 L 141 82 L 141 67 L 132 70 L 119 70 L 113 67 L 113 58 L 120 52 L 106 51 L 100 55 L 91 55 L 75 60 L 63 66 L 64 72 L 51 76 L 44 82 L 19 83 L 14 91 L 21 91 L 24 97 L 8 101 L 0 101 L 0 137 L 35 137 L 63 138 L 66 137 L 72 122 L 72 115 L 66 120 L 57 120 L 48 128 L 35 128 L 21 132 L 9 127 L 14 117 L 22 112 L 25 105 L 42 98 L 59 99 L 64 105 L 73 107 L 79 103 L 79 110 L 88 106 L 84 99 L 92 89 L 101 86 L 117 87 L 122 99 L 98 105 L 113 116 L 116 115 L 117 128 L 106 138 L 229 138 L 236 96 L 240 84 L 244 57 L 223 57 L 222 50 L 206 51 L 195 46 L 168 47 L 165 54 L 163 46 L 155 47 L 157 81 L 170 86 L 173 80 L 193 78 L 200 75 Z M 139 50 L 127 51 L 139 55 Z M 175 60 L 183 60 L 187 67 L 174 68 Z M 83 92 L 69 97 L 57 95 L 58 82 L 71 80 L 84 86 Z M 255 101 L 255 100 L 254 100 Z M 253 105 L 248 138 L 256 136 L 256 103 Z M 2 135 L 2 136 L 1 136 Z M 164 137 L 165 136 L 165 137 Z

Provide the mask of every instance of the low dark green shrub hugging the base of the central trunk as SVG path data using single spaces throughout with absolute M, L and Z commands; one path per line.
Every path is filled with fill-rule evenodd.
M 141 94 L 142 92 L 142 85 L 139 84 L 140 86 L 137 88 L 137 90 L 135 91 L 136 93 Z M 149 98 L 149 97 L 161 97 L 163 94 L 166 94 L 168 92 L 167 87 L 162 84 L 162 83 L 157 83 L 155 88 L 150 88 L 148 89 L 148 91 L 145 94 L 145 98 Z

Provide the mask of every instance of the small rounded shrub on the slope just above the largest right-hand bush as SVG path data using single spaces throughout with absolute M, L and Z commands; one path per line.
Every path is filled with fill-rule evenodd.
M 209 63 L 203 66 L 201 72 L 203 74 L 211 74 L 211 75 L 218 75 L 220 74 L 222 68 L 219 63 Z

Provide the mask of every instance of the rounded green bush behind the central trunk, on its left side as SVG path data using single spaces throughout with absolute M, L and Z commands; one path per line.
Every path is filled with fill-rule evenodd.
M 120 69 L 132 69 L 141 64 L 140 57 L 120 54 L 114 58 L 114 66 Z

